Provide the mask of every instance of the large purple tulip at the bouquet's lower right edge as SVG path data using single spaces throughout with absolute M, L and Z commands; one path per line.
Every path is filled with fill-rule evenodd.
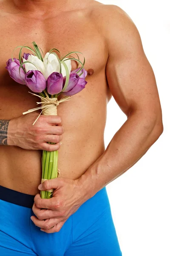
M 65 81 L 65 77 L 63 78 Z M 63 83 L 64 84 L 64 83 Z M 77 73 L 70 73 L 70 79 L 68 82 L 68 86 L 63 91 L 63 95 L 65 96 L 72 96 L 76 93 L 79 93 L 82 89 L 85 88 L 87 81 L 84 78 L 80 78 Z

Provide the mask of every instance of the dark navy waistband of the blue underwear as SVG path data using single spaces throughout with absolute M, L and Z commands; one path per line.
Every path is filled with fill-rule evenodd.
M 32 208 L 35 195 L 28 195 L 13 189 L 0 186 L 0 199 L 12 204 Z

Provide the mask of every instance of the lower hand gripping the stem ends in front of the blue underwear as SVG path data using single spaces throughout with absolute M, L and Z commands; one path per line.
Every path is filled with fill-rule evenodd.
M 59 232 L 65 221 L 85 202 L 78 180 L 59 177 L 45 180 L 38 188 L 54 189 L 53 197 L 49 199 L 41 199 L 37 194 L 32 207 L 37 218 L 31 216 L 31 220 L 46 233 Z

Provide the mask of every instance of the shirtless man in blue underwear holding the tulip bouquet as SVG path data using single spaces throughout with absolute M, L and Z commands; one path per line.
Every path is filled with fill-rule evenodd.
M 94 0 L 0 0 L 0 23 L 0 255 L 121 256 L 105 186 L 163 131 L 135 24 L 118 6 Z M 12 50 L 32 41 L 44 52 L 82 52 L 88 70 L 85 89 L 34 126 L 38 112 L 22 113 L 37 97 L 5 69 Z M 105 149 L 112 96 L 127 120 Z M 61 176 L 39 186 L 43 149 L 59 150 Z M 39 189 L 55 189 L 53 198 L 41 199 Z

